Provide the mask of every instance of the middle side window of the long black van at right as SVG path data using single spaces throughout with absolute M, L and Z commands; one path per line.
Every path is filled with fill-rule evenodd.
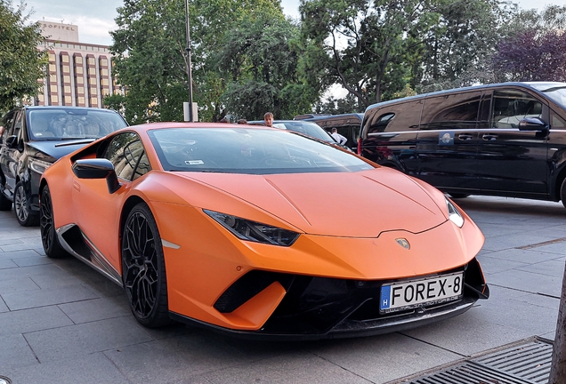
M 425 100 L 422 130 L 473 129 L 478 120 L 481 92 L 451 93 Z

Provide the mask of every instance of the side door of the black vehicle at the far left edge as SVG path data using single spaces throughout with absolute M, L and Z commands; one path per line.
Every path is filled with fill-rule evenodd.
M 12 121 L 4 126 L 2 134 L 2 148 L 0 149 L 0 166 L 4 174 L 4 195 L 13 198 L 13 191 L 16 187 L 16 177 L 18 175 L 18 164 L 23 152 L 23 143 L 20 143 L 22 125 L 24 124 L 23 110 L 15 111 Z M 21 146 L 20 146 L 21 144 Z

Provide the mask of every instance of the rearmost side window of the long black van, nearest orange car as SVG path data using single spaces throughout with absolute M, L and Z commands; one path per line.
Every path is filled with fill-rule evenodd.
M 410 100 L 369 110 L 364 117 L 364 137 L 378 132 L 416 131 L 421 117 L 423 100 Z

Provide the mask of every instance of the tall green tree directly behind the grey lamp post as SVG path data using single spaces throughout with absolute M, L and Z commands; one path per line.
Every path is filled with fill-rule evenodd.
M 259 10 L 282 13 L 279 0 L 190 1 L 192 86 L 201 120 L 226 114 L 221 99 L 227 82 L 214 61 L 224 34 Z M 133 124 L 182 120 L 189 92 L 184 0 L 125 0 L 117 11 L 110 49 L 117 81 L 127 89 L 126 119 Z

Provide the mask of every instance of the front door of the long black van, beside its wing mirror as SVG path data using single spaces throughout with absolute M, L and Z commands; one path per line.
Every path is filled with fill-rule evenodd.
M 480 129 L 478 183 L 487 194 L 546 196 L 548 193 L 548 132 L 522 131 L 525 117 L 548 122 L 546 101 L 519 88 L 489 92 L 489 124 Z

